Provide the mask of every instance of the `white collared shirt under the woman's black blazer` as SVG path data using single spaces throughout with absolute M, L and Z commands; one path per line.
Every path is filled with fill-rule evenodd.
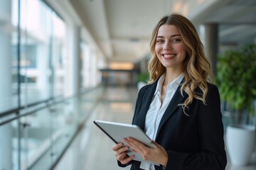
M 171 81 L 171 83 L 167 85 L 166 96 L 163 103 L 161 103 L 161 87 L 164 83 L 164 77 L 165 74 L 163 74 L 157 82 L 156 91 L 149 106 L 149 110 L 146 113 L 145 132 L 152 140 L 156 140 L 156 132 L 159 128 L 161 118 L 167 106 L 169 106 L 171 98 L 173 98 L 178 86 L 181 84 L 184 75 L 179 75 L 174 81 Z M 140 168 L 154 170 L 154 165 L 142 162 Z

